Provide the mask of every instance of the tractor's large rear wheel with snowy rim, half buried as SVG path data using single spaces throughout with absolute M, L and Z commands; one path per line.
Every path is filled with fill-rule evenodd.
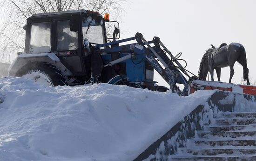
M 32 63 L 20 69 L 17 76 L 22 76 L 44 86 L 64 86 L 66 78 L 61 70 L 47 62 Z

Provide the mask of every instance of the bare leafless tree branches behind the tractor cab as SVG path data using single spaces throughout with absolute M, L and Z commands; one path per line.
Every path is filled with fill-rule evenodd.
M 25 33 L 22 27 L 26 19 L 35 13 L 86 9 L 111 14 L 120 20 L 126 0 L 4 0 L 0 2 L 2 19 L 0 25 L 0 62 L 10 62 L 16 53 L 24 51 Z

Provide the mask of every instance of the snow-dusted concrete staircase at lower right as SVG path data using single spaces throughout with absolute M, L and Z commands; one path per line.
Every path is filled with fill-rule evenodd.
M 168 160 L 256 161 L 256 112 L 223 113 Z

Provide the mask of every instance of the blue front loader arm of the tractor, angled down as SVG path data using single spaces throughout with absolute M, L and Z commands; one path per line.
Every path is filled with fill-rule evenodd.
M 120 43 L 127 43 L 133 40 L 136 40 L 137 43 L 129 43 L 119 46 Z M 102 49 L 102 47 L 105 47 L 105 49 Z M 113 53 L 119 53 L 120 58 L 115 61 L 105 62 L 105 67 L 124 62 L 128 59 L 139 60 L 139 62 L 147 61 L 170 85 L 170 89 L 172 89 L 173 92 L 177 92 L 178 89 L 176 83 L 178 83 L 184 85 L 182 95 L 188 93 L 188 81 L 181 71 L 190 78 L 189 74 L 186 73 L 182 65 L 175 60 L 175 57 L 171 52 L 162 44 L 159 37 L 154 37 L 152 41 L 146 41 L 141 33 L 136 33 L 135 37 L 93 46 L 92 49 L 92 54 L 101 54 L 103 59 L 106 55 Z M 127 77 L 128 81 L 143 81 L 143 78 L 142 80 L 141 78 L 137 79 L 140 75 L 134 78 L 127 74 Z

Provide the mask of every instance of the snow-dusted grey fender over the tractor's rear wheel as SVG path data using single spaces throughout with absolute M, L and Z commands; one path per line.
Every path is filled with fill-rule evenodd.
M 10 65 L 8 69 L 8 76 L 16 76 L 17 72 L 24 66 L 33 62 L 48 62 L 53 64 L 61 70 L 64 76 L 73 75 L 62 63 L 61 60 L 54 53 L 35 53 L 35 54 L 20 54 Z

